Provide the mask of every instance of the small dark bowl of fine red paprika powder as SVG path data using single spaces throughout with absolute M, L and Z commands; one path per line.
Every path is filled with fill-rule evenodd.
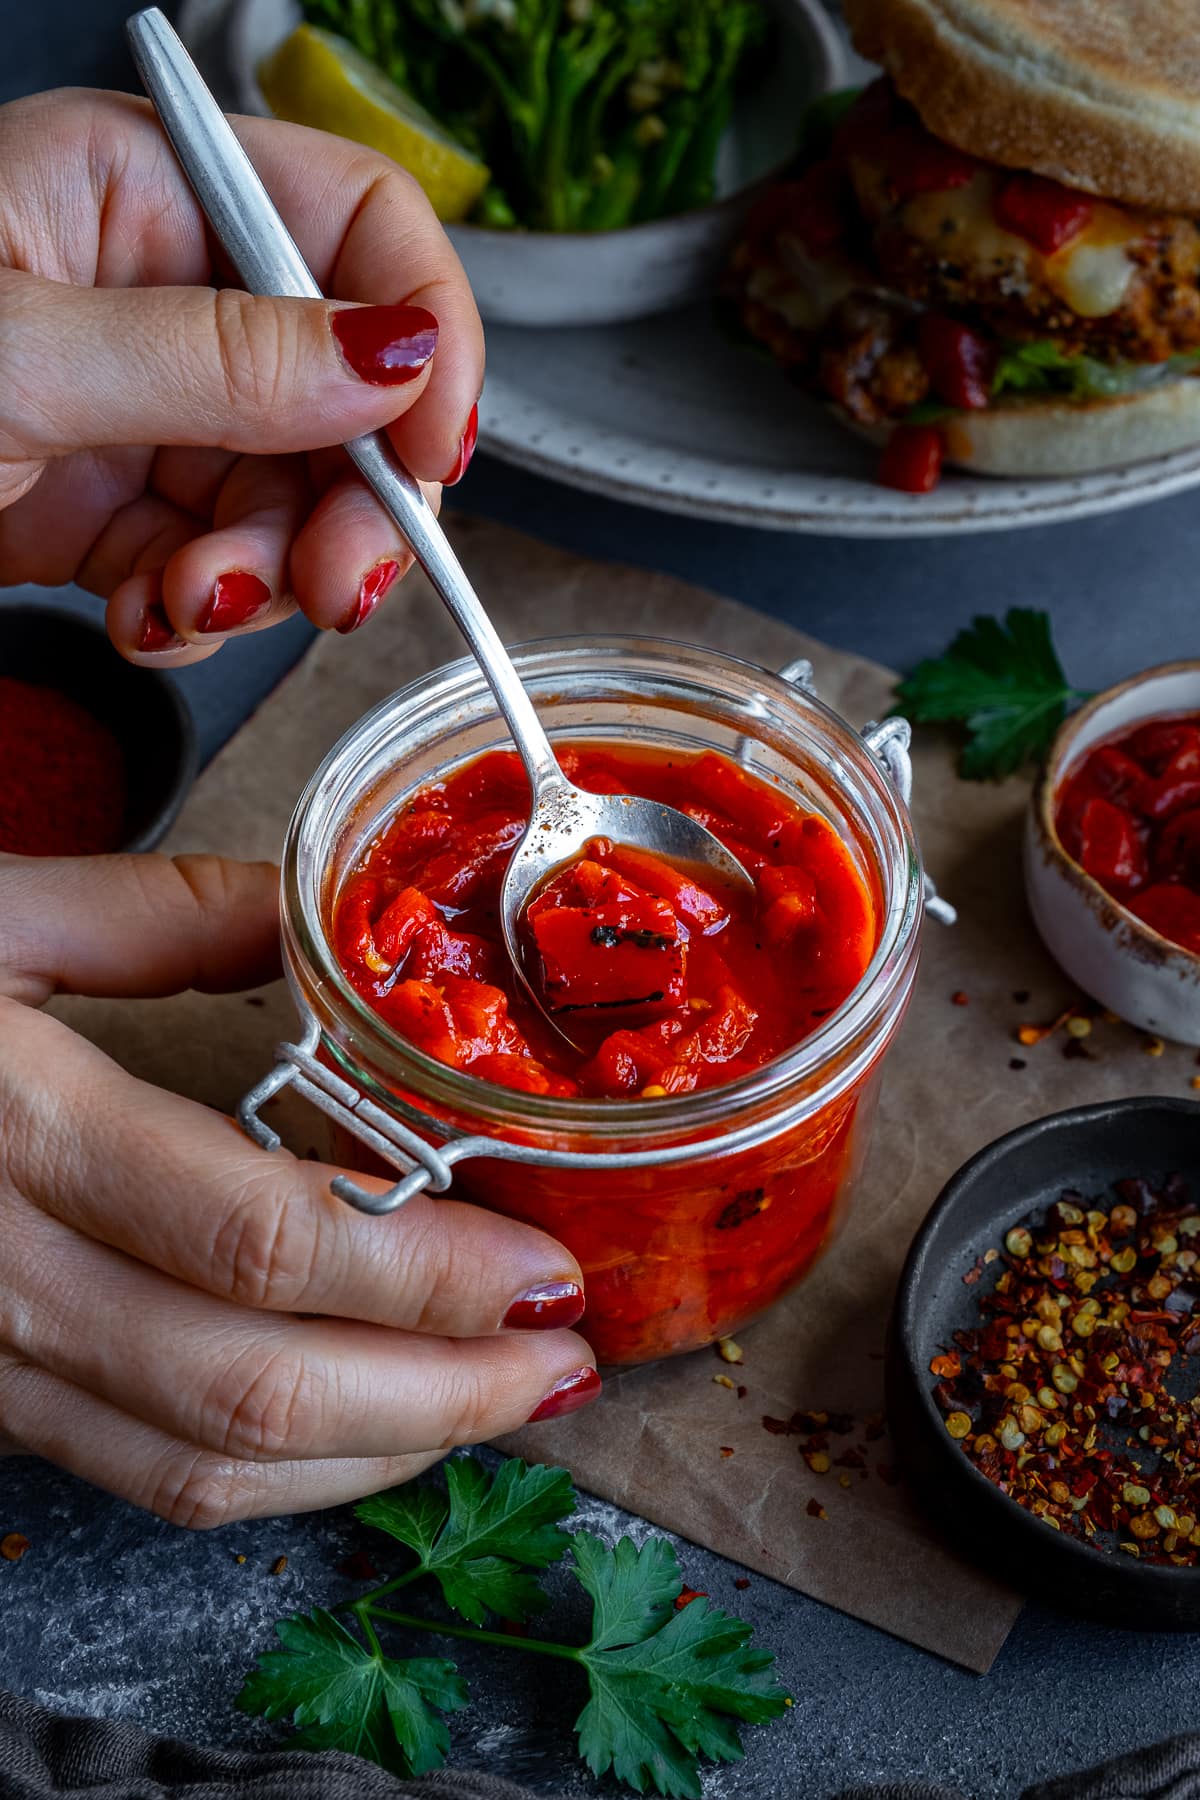
M 0 603 L 0 850 L 153 850 L 194 776 L 196 729 L 167 675 L 74 612 Z

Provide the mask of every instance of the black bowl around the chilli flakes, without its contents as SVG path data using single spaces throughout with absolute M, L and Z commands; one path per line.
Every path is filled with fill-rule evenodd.
M 1180 1174 L 1200 1204 L 1200 1103 L 1074 1107 L 999 1138 L 950 1177 L 918 1231 L 896 1294 L 887 1411 L 919 1501 L 973 1562 L 1038 1600 L 1110 1625 L 1200 1629 L 1200 1568 L 1137 1562 L 1043 1525 L 988 1481 L 946 1433 L 930 1359 L 972 1323 L 964 1273 L 1063 1190 L 1105 1193 L 1126 1175 Z M 1101 1202 L 1103 1204 L 1103 1202 Z

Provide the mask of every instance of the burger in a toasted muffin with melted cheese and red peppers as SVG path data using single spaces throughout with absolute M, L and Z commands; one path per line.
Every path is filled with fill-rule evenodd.
M 883 74 L 734 252 L 741 326 L 880 479 L 1200 443 L 1196 0 L 844 0 Z

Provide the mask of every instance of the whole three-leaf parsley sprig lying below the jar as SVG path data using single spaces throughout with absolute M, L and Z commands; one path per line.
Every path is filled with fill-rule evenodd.
M 378 1627 L 466 1638 L 576 1663 L 590 1688 L 576 1732 L 592 1773 L 612 1773 L 639 1795 L 700 1800 L 698 1759 L 739 1760 L 739 1724 L 765 1724 L 788 1706 L 775 1658 L 750 1645 L 750 1625 L 703 1597 L 676 1607 L 682 1577 L 666 1539 L 639 1548 L 622 1537 L 610 1548 L 561 1528 L 576 1507 L 565 1469 L 511 1458 L 491 1476 L 464 1456 L 444 1472 L 444 1492 L 410 1483 L 356 1508 L 416 1562 L 336 1609 L 362 1636 L 320 1607 L 281 1620 L 282 1649 L 264 1651 L 246 1676 L 243 1712 L 290 1717 L 308 1748 L 425 1775 L 446 1757 L 444 1717 L 468 1705 L 466 1683 L 452 1661 L 389 1656 Z M 489 1616 L 525 1622 L 542 1611 L 549 1600 L 538 1571 L 563 1557 L 592 1600 L 587 1643 L 484 1629 Z M 392 1597 L 421 1579 L 435 1580 L 466 1624 L 398 1611 Z

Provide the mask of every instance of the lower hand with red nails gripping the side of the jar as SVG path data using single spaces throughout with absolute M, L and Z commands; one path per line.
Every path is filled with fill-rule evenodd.
M 353 1499 L 599 1391 L 561 1246 L 428 1195 L 354 1213 L 335 1170 L 34 1010 L 268 979 L 275 887 L 0 857 L 0 1447 L 191 1526 Z

